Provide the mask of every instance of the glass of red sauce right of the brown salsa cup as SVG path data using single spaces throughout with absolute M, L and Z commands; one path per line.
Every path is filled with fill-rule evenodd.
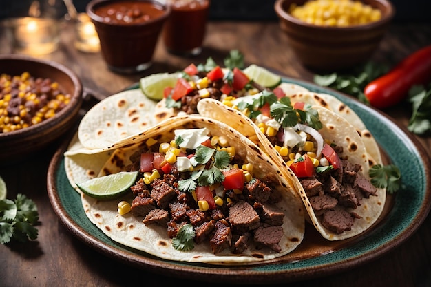
M 168 52 L 179 56 L 196 56 L 202 52 L 207 28 L 209 0 L 167 0 L 171 15 L 163 29 Z

